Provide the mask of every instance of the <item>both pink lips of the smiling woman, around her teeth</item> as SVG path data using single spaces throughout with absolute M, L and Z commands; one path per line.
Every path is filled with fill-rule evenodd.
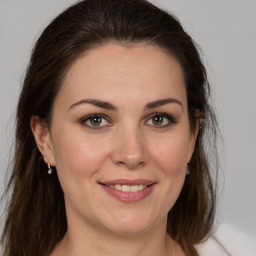
M 137 180 L 127 180 L 127 179 L 119 179 L 119 180 L 112 180 L 112 181 L 107 181 L 104 183 L 99 183 L 102 188 L 111 196 L 114 198 L 122 201 L 122 202 L 138 202 L 140 200 L 143 200 L 145 197 L 147 197 L 152 190 L 154 189 L 156 182 L 150 181 L 150 180 L 142 180 L 142 179 L 137 179 Z M 106 185 L 148 185 L 147 188 L 140 190 L 138 192 L 123 192 L 120 190 L 116 190 L 114 188 L 107 187 Z

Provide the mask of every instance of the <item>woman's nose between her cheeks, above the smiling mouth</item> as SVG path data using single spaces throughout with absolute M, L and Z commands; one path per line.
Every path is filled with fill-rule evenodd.
M 115 140 L 112 161 L 116 165 L 133 170 L 147 164 L 149 152 L 146 140 L 138 129 L 122 130 L 115 136 Z

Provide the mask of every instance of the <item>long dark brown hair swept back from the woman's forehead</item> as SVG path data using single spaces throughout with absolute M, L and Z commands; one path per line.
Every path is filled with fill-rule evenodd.
M 195 43 L 173 15 L 147 1 L 85 0 L 56 17 L 32 52 L 17 106 L 14 163 L 7 185 L 11 198 L 1 240 L 5 256 L 49 255 L 67 230 L 63 191 L 56 172 L 47 174 L 30 119 L 37 115 L 50 125 L 53 102 L 69 67 L 84 51 L 108 42 L 156 45 L 181 64 L 191 129 L 199 118 L 200 130 L 190 175 L 169 212 L 167 232 L 187 256 L 196 256 L 194 245 L 211 230 L 216 168 L 210 172 L 209 159 L 216 160 L 217 124 Z

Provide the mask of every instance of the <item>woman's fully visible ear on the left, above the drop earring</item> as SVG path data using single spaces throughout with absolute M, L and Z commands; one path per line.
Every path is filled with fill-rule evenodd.
M 44 158 L 44 162 L 54 166 L 55 161 L 52 141 L 47 124 L 44 123 L 38 116 L 32 116 L 30 119 L 30 127 L 37 147 Z

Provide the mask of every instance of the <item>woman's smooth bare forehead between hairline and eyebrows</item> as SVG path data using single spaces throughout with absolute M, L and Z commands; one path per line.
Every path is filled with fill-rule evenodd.
M 69 103 L 84 97 L 122 103 L 167 95 L 186 98 L 182 68 L 174 57 L 151 45 L 107 44 L 84 52 L 73 63 L 57 98 Z

